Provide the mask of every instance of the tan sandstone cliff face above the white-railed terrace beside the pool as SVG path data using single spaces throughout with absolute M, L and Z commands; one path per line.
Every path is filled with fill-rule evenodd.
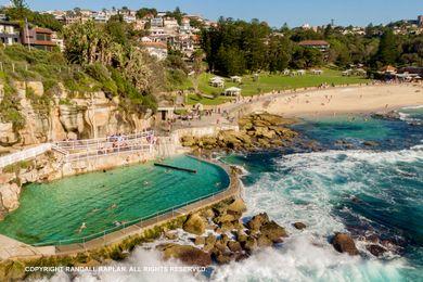
M 107 98 L 102 91 L 70 93 L 60 85 L 55 94 L 47 98 L 39 81 L 14 81 L 14 89 L 25 125 L 16 129 L 12 123 L 0 121 L 0 149 L 66 138 L 104 137 L 150 126 L 151 113 L 128 114 L 125 108 L 119 108 L 118 98 Z M 2 94 L 0 102 L 1 99 Z

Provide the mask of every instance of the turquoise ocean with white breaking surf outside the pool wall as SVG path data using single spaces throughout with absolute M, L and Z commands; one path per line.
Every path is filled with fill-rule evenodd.
M 423 108 L 400 119 L 339 116 L 295 125 L 315 150 L 298 146 L 226 156 L 245 175 L 246 216 L 266 211 L 284 226 L 282 246 L 246 260 L 187 272 L 80 274 L 76 281 L 423 281 Z M 296 230 L 292 225 L 304 222 Z M 335 232 L 348 232 L 360 256 L 334 251 Z M 370 244 L 387 249 L 381 257 Z M 115 266 L 174 266 L 139 247 Z M 67 279 L 60 273 L 53 280 Z

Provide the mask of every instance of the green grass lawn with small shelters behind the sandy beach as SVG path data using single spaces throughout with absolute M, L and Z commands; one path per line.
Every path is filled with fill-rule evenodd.
M 202 93 L 207 95 L 217 95 L 221 93 L 225 89 L 211 87 L 208 85 L 208 81 L 215 75 L 213 74 L 202 74 L 198 78 L 198 89 Z M 316 87 L 323 82 L 329 85 L 357 85 L 369 82 L 367 78 L 363 77 L 346 77 L 342 76 L 341 72 L 333 69 L 324 69 L 322 75 L 311 75 L 307 74 L 305 76 L 283 76 L 283 75 L 270 75 L 270 74 L 260 74 L 258 81 L 253 80 L 252 75 L 243 76 L 242 84 L 231 82 L 229 79 L 226 79 L 225 88 L 232 86 L 239 87 L 242 89 L 242 95 L 249 97 L 259 93 L 268 93 L 273 90 L 286 90 L 286 89 L 297 89 L 305 87 Z M 198 99 L 195 94 L 189 94 L 188 99 L 189 104 L 202 103 L 204 105 L 217 105 L 228 101 L 228 98 L 218 97 L 216 99 L 202 98 Z

